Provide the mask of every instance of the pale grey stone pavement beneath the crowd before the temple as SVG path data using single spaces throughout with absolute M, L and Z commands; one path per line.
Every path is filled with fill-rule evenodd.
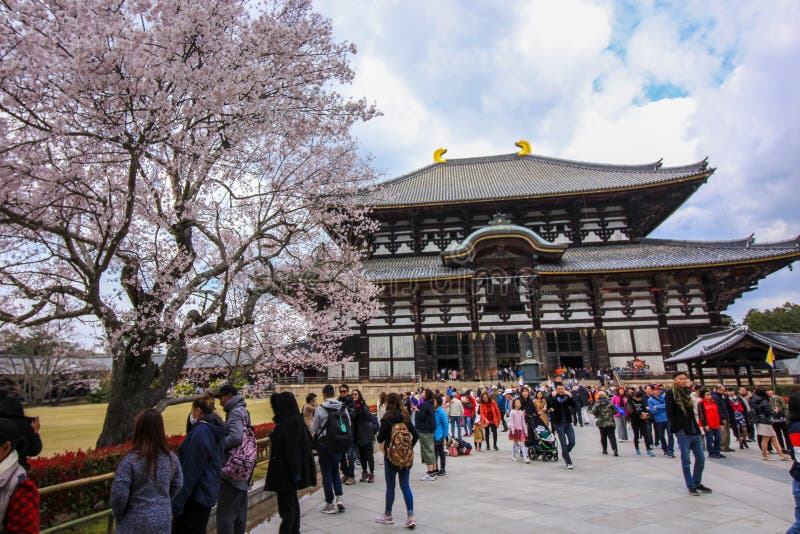
M 727 459 L 706 458 L 703 483 L 714 493 L 692 497 L 683 483 L 677 451 L 675 459 L 664 457 L 660 450 L 655 458 L 636 456 L 633 444 L 626 442 L 619 444 L 620 457 L 603 456 L 596 427 L 576 428 L 575 433 L 575 469 L 571 471 L 561 460 L 557 464 L 513 462 L 511 443 L 504 433 L 498 440 L 499 452 L 448 457 L 447 476 L 435 482 L 419 480 L 425 470 L 417 457 L 411 477 L 416 531 L 476 532 L 500 527 L 510 532 L 519 527 L 556 527 L 592 534 L 619 534 L 620 529 L 648 534 L 765 534 L 784 533 L 793 521 L 791 462 L 761 461 L 752 443 L 749 450 L 727 453 Z M 385 488 L 383 466 L 375 469 L 374 484 L 344 486 L 344 513 L 320 512 L 322 490 L 302 499 L 301 531 L 361 534 L 405 530 L 405 504 L 399 487 L 393 510 L 396 523 L 374 522 L 383 512 Z M 279 523 L 275 516 L 251 533 L 277 533 Z

